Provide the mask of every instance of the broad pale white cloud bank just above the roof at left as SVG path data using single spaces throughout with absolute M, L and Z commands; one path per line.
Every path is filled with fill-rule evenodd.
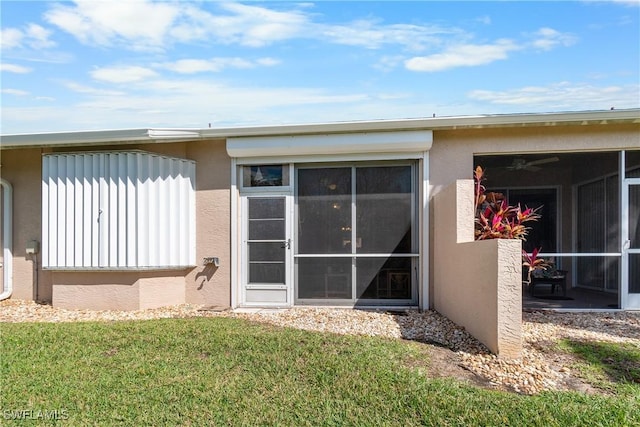
M 27 113 L 37 111 L 44 123 L 41 128 L 53 130 L 104 129 L 105 124 L 118 127 L 206 127 L 247 124 L 277 124 L 297 120 L 344 120 L 349 109 L 373 108 L 369 95 L 359 92 L 331 92 L 307 87 L 229 86 L 205 80 L 158 80 L 133 82 L 122 92 L 101 93 L 100 90 L 68 83 L 67 87 L 82 91 L 83 101 L 65 108 L 22 109 L 3 107 L 3 118 L 12 127 L 7 133 L 36 131 Z M 104 92 L 104 91 L 102 91 Z M 390 108 L 389 100 L 379 103 Z M 379 111 L 381 109 L 376 109 Z M 64 111 L 65 117 L 58 113 Z M 370 118 L 360 111 L 361 118 Z M 353 116 L 351 116 L 353 117 Z

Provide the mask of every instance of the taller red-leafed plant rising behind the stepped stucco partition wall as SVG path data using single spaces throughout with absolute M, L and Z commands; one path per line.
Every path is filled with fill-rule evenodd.
M 525 224 L 540 218 L 538 209 L 510 206 L 502 193 L 486 192 L 484 170 L 478 166 L 473 171 L 475 184 L 475 239 L 526 240 L 531 229 Z

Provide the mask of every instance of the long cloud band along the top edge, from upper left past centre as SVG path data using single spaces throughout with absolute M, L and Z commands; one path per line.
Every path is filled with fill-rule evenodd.
M 455 28 L 384 25 L 373 19 L 324 24 L 315 22 L 315 15 L 304 4 L 287 4 L 288 10 L 233 2 L 207 4 L 216 8 L 216 12 L 188 2 L 82 0 L 74 5 L 52 6 L 45 19 L 81 43 L 132 50 L 165 50 L 174 43 L 194 41 L 258 48 L 294 38 L 370 49 L 398 45 L 422 50 L 439 45 L 443 35 L 463 34 Z

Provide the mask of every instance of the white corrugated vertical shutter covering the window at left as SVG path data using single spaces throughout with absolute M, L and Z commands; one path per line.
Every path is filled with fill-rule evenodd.
M 195 163 L 142 151 L 44 155 L 42 265 L 195 265 Z

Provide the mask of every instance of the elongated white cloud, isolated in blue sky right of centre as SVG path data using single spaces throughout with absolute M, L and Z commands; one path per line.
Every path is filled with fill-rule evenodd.
M 506 59 L 509 52 L 518 49 L 521 47 L 506 39 L 498 40 L 493 44 L 456 45 L 446 49 L 443 53 L 408 59 L 404 64 L 411 71 L 444 71 L 456 67 L 486 65 Z

